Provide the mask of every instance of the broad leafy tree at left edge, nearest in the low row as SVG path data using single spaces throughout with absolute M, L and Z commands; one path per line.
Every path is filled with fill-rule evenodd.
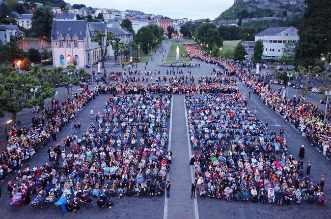
M 38 66 L 34 67 L 34 69 L 37 68 Z M 0 72 L 6 72 L 0 76 L 0 83 L 4 85 L 0 87 L 0 111 L 11 113 L 13 123 L 16 122 L 16 114 L 23 108 L 32 108 L 35 105 L 43 106 L 44 99 L 55 94 L 55 89 L 46 80 L 46 74 L 41 74 L 39 70 L 19 74 L 15 68 L 9 69 L 2 66 Z M 31 88 L 38 88 L 36 99 L 30 92 Z

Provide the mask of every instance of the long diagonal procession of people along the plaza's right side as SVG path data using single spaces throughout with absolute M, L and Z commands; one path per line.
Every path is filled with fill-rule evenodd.
M 328 116 L 328 122 L 323 125 L 323 111 L 318 110 L 318 106 L 311 102 L 300 104 L 301 97 L 298 99 L 285 98 L 281 92 L 270 90 L 270 86 L 264 86 L 258 82 L 255 77 L 245 70 L 244 64 L 239 66 L 233 61 L 220 61 L 218 58 L 207 57 L 201 50 L 194 45 L 186 45 L 186 52 L 190 58 L 198 58 L 206 62 L 217 63 L 224 71 L 235 74 L 241 82 L 250 87 L 261 100 L 273 111 L 282 115 L 287 121 L 293 123 L 295 127 L 307 139 L 321 151 L 328 159 L 331 158 L 331 122 Z M 328 111 L 330 112 L 330 110 Z

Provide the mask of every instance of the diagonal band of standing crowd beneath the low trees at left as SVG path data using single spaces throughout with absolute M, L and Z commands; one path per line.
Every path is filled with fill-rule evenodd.
M 56 140 L 57 133 L 63 125 L 68 124 L 96 95 L 98 88 L 93 90 L 81 90 L 73 95 L 73 102 L 59 102 L 52 100 L 52 106 L 43 108 L 39 119 L 27 127 L 16 127 L 8 130 L 7 147 L 0 155 L 0 176 L 7 172 L 17 170 L 24 161 L 33 157 L 39 147 L 46 145 L 50 137 Z M 46 125 L 45 119 L 47 118 Z

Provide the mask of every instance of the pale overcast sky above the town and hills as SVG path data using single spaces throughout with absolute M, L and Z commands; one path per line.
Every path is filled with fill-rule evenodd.
M 201 18 L 213 20 L 233 5 L 233 0 L 70 0 L 66 2 L 71 5 L 84 4 L 92 8 L 113 8 L 121 11 L 132 9 L 146 14 L 164 15 L 173 19 L 186 17 L 192 20 Z

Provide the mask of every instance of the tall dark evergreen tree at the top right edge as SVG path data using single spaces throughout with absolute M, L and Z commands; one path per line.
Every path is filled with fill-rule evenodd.
M 296 47 L 295 64 L 315 66 L 321 57 L 331 61 L 331 10 L 329 0 L 306 0 L 304 17 L 298 28 L 300 41 Z

